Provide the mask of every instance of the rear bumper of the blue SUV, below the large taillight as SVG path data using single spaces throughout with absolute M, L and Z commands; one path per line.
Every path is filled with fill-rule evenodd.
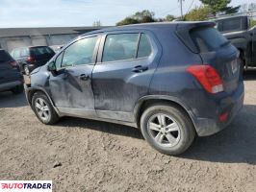
M 231 96 L 221 98 L 217 101 L 216 118 L 195 117 L 193 123 L 198 136 L 212 135 L 226 128 L 243 108 L 243 98 L 243 84 L 240 84 Z M 224 112 L 228 112 L 227 119 L 220 123 L 218 116 Z

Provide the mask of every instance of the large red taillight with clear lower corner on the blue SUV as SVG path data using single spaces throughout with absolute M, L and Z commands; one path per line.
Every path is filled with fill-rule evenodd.
M 224 90 L 222 80 L 214 67 L 207 64 L 192 65 L 187 68 L 187 71 L 191 73 L 209 93 L 218 93 Z

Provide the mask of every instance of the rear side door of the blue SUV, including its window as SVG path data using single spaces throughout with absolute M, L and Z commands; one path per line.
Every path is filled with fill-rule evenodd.
M 134 121 L 136 102 L 148 92 L 159 60 L 150 33 L 115 32 L 102 37 L 92 72 L 95 110 L 102 118 Z

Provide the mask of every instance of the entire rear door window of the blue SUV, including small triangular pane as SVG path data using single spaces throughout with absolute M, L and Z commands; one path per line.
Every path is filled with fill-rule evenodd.
M 102 61 L 144 58 L 151 52 L 151 43 L 145 34 L 109 35 L 105 41 Z

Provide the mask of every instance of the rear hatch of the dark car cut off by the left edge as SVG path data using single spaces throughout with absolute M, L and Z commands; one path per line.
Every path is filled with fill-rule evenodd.
M 20 81 L 21 75 L 12 63 L 15 60 L 4 50 L 0 50 L 0 84 Z

